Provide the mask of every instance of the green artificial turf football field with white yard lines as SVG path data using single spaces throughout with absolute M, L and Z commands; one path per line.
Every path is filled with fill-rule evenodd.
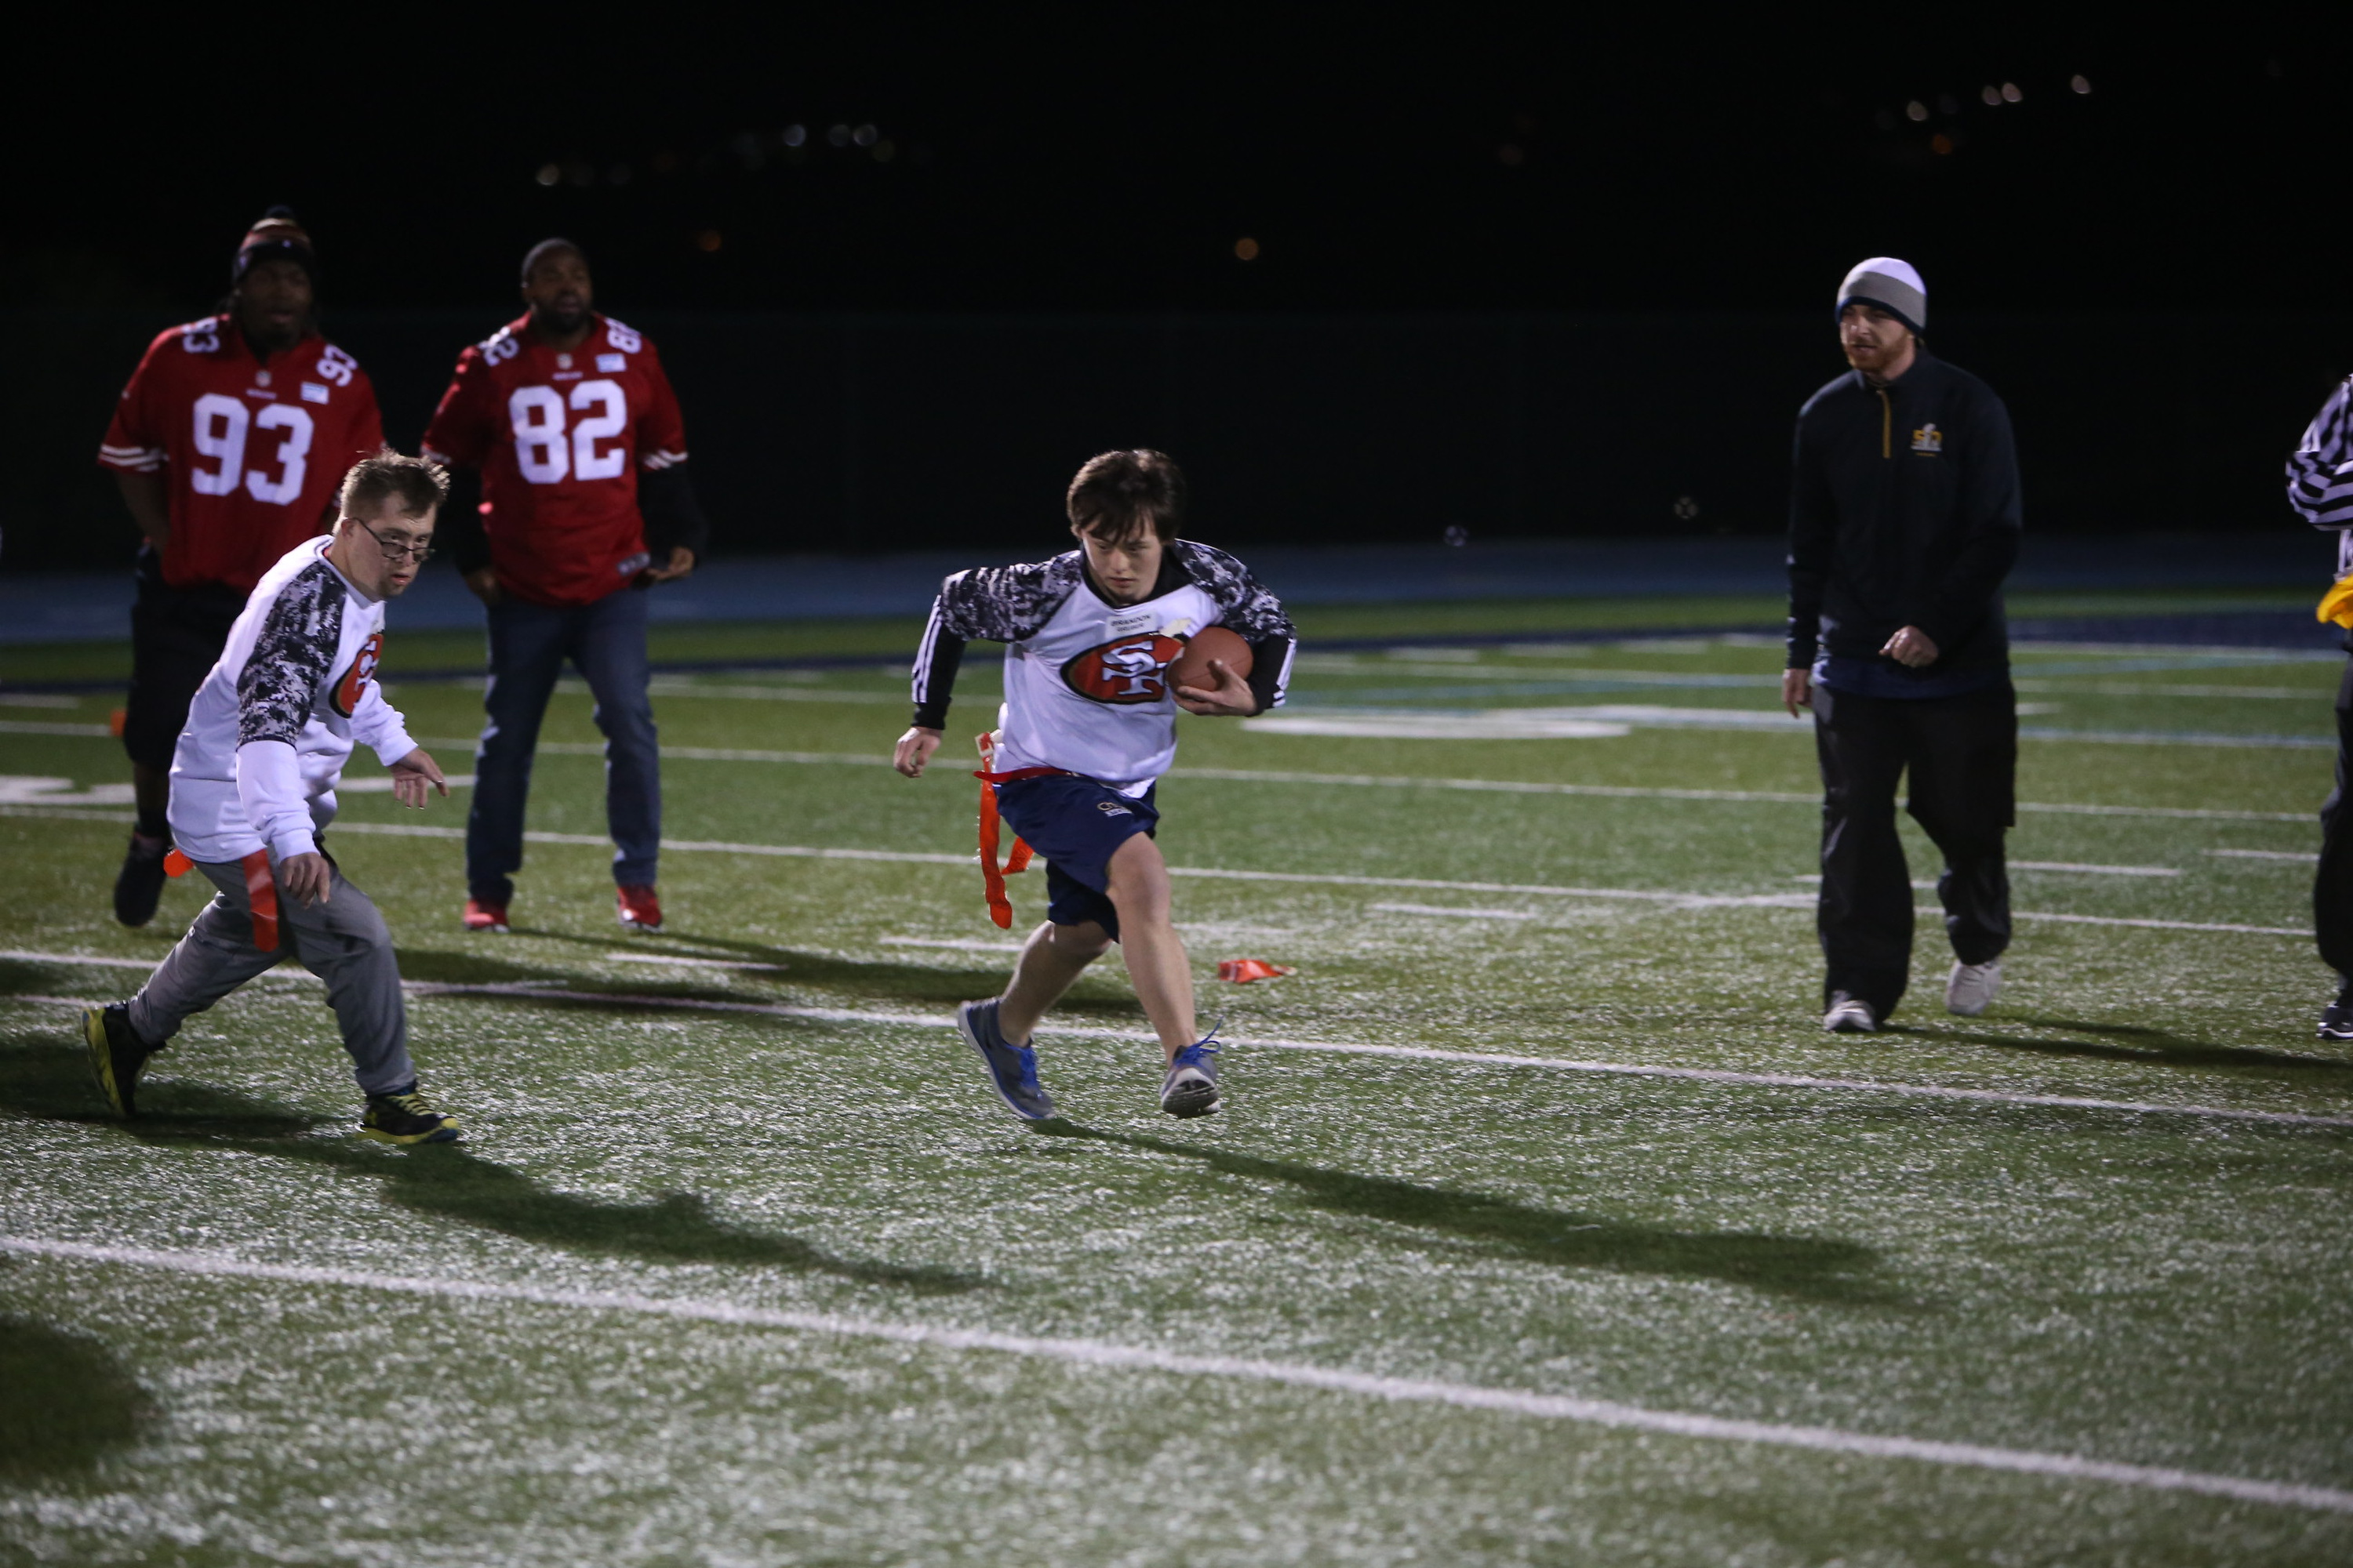
M 1652 625 L 1746 625 L 1732 609 Z M 332 1018 L 292 971 L 191 1020 L 146 1117 L 99 1114 L 61 999 L 127 994 L 198 889 L 144 931 L 108 917 L 115 698 L 0 708 L 0 776 L 71 780 L 0 806 L 0 1232 L 106 1248 L 0 1253 L 0 1556 L 2353 1556 L 2327 1500 L 1786 1439 L 2353 1502 L 2353 1126 L 2327 1121 L 2353 1117 L 2353 1051 L 2313 1039 L 2329 978 L 2294 936 L 2329 661 L 2024 654 L 2012 856 L 2033 865 L 2000 1001 L 1944 1013 L 1922 917 L 1894 1027 L 1828 1037 L 1807 726 L 1692 726 L 1772 708 L 1769 642 L 1555 646 L 1579 623 L 1447 607 L 1304 621 L 1407 646 L 1311 651 L 1294 715 L 1664 717 L 1558 741 L 1184 719 L 1160 844 L 1202 1016 L 1240 1039 L 1207 1121 L 1155 1110 L 1115 959 L 1056 1016 L 1078 1032 L 1040 1039 L 1064 1121 L 1007 1117 L 946 1025 L 1012 940 L 962 858 L 981 651 L 953 750 L 913 783 L 882 764 L 906 710 L 880 656 L 661 679 L 661 936 L 612 919 L 584 691 L 555 698 L 532 830 L 591 842 L 532 844 L 513 936 L 456 926 L 464 790 L 424 813 L 351 792 L 334 851 L 393 924 L 426 1084 L 468 1128 L 409 1152 L 348 1135 Z M 1464 630 L 1529 639 L 1409 646 Z M 461 771 L 475 691 L 398 658 L 386 679 Z M 1012 889 L 1019 931 L 1042 882 Z M 1226 957 L 1297 973 L 1219 985 Z M 188 1272 L 224 1258 L 334 1274 Z M 965 1331 L 1078 1349 L 941 1338 Z

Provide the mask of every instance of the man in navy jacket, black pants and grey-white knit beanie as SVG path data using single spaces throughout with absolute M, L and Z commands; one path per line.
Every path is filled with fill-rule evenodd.
M 1892 256 L 1838 292 L 1852 367 L 1798 414 L 1781 701 L 1814 710 L 1821 759 L 1824 1027 L 1875 1030 L 1911 971 L 1913 891 L 1897 780 L 1944 851 L 1944 1001 L 1981 1013 L 2009 945 L 2002 835 L 2019 710 L 2002 578 L 2019 555 L 2009 411 L 1920 346 L 1927 287 Z

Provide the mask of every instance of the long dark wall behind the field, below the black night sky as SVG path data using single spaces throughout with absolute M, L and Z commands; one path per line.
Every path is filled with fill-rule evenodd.
M 1838 374 L 1821 315 L 682 315 L 659 343 L 713 545 L 875 552 L 1054 538 L 1106 447 L 1193 475 L 1209 541 L 1351 543 L 1774 534 L 1798 404 Z M 113 567 L 132 529 L 92 461 L 172 317 L 0 313 L 19 480 L 0 569 Z M 496 310 L 334 313 L 414 449 L 456 350 Z M 2280 463 L 2346 364 L 2353 320 L 1939 317 L 2019 430 L 2038 531 L 2287 527 Z M 33 367 L 40 367 L 38 371 Z M 2254 388 L 2252 395 L 2221 388 Z

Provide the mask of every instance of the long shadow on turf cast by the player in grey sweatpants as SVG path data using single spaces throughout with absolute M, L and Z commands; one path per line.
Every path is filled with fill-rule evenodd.
M 169 1060 L 169 1053 L 160 1056 L 153 1072 L 167 1074 Z M 61 1046 L 0 1046 L 0 1110 L 45 1121 L 113 1121 L 89 1084 L 80 1048 Z M 348 1131 L 355 1119 L 306 1117 L 275 1100 L 172 1077 L 148 1077 L 139 1091 L 139 1117 L 120 1126 L 158 1147 L 235 1150 L 301 1161 L 336 1175 L 372 1178 L 384 1182 L 384 1197 L 402 1208 L 576 1253 L 619 1253 L 649 1262 L 767 1265 L 929 1295 L 979 1291 L 988 1284 L 955 1269 L 838 1258 L 800 1237 L 739 1229 L 715 1218 L 708 1199 L 696 1192 L 609 1204 L 551 1192 L 464 1145 L 391 1150 L 358 1138 L 313 1138 L 308 1133 L 325 1126 Z

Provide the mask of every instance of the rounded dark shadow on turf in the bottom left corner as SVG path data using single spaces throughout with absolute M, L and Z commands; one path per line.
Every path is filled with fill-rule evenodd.
M 0 1314 L 0 1481 L 71 1476 L 127 1448 L 153 1401 L 106 1345 Z

